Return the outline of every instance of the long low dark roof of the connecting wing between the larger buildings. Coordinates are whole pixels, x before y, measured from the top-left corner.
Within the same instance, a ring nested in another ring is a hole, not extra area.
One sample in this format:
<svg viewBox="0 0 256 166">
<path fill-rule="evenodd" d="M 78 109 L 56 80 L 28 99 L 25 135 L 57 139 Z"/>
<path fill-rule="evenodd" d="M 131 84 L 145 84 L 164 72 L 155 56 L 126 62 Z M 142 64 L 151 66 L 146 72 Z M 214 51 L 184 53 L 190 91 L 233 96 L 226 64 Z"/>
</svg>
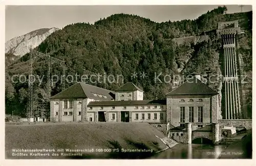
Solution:
<svg viewBox="0 0 256 166">
<path fill-rule="evenodd" d="M 88 106 L 166 105 L 166 100 L 91 101 Z"/>
</svg>

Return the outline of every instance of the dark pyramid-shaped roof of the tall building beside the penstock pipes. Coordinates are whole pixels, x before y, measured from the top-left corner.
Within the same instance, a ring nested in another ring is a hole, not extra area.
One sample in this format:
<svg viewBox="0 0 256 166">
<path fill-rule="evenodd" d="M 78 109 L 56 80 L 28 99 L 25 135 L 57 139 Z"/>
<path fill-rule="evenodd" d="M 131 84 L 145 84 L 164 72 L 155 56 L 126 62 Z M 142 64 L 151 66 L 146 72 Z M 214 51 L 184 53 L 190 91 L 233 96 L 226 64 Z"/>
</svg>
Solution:
<svg viewBox="0 0 256 166">
<path fill-rule="evenodd" d="M 166 95 L 218 94 L 196 77 L 188 79 L 184 84 Z"/>
</svg>

